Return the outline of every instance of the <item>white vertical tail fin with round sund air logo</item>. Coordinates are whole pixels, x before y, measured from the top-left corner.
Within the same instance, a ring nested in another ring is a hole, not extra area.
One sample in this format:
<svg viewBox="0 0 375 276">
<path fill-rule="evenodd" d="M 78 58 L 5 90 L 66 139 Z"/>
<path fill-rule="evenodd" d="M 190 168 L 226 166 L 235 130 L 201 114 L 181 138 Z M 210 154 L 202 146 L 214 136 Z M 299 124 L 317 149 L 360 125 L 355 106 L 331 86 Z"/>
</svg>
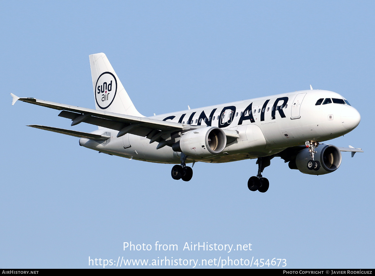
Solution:
<svg viewBox="0 0 375 276">
<path fill-rule="evenodd" d="M 89 55 L 96 110 L 144 117 L 133 105 L 105 54 Z"/>
</svg>

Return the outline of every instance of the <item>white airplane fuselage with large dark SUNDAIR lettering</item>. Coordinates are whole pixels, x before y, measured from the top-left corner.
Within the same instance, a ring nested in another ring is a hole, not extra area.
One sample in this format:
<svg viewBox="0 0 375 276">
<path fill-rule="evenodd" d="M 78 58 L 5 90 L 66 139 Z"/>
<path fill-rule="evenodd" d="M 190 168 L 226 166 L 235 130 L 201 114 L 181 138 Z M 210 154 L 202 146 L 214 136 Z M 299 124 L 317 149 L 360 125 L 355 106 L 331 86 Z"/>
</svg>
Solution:
<svg viewBox="0 0 375 276">
<path fill-rule="evenodd" d="M 344 99 L 326 90 L 303 90 L 229 104 L 196 108 L 149 118 L 192 126 L 213 126 L 236 130 L 239 138 L 228 141 L 222 153 L 190 158 L 191 162 L 222 163 L 276 154 L 305 141 L 326 141 L 353 130 L 360 121 L 358 111 L 347 104 L 316 105 L 319 99 Z M 345 100 L 345 99 L 344 99 Z M 251 113 L 249 112 L 251 110 Z M 80 139 L 80 145 L 108 154 L 157 163 L 180 163 L 180 153 L 165 146 L 156 149 L 146 137 L 100 128 L 96 134 L 111 136 L 106 141 Z"/>
</svg>

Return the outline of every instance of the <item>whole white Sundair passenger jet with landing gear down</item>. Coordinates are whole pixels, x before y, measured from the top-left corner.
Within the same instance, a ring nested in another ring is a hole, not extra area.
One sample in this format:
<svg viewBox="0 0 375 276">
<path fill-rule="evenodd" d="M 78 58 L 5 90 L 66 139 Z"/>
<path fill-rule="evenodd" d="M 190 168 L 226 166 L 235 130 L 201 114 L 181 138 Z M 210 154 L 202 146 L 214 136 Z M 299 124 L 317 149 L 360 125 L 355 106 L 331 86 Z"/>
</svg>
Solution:
<svg viewBox="0 0 375 276">
<path fill-rule="evenodd" d="M 279 156 L 289 168 L 305 174 L 335 171 L 341 152 L 352 157 L 360 148 L 336 147 L 321 141 L 342 136 L 360 122 L 360 114 L 338 93 L 326 90 L 296 91 L 229 104 L 145 117 L 127 95 L 105 54 L 89 56 L 96 110 L 12 95 L 17 101 L 61 110 L 58 116 L 71 126 L 99 126 L 90 133 L 57 127 L 29 125 L 80 137 L 80 145 L 131 159 L 180 164 L 173 179 L 189 181 L 193 170 L 186 163 L 223 163 L 257 158 L 258 174 L 248 180 L 252 191 L 266 192 L 262 176 L 270 160 Z"/>
</svg>

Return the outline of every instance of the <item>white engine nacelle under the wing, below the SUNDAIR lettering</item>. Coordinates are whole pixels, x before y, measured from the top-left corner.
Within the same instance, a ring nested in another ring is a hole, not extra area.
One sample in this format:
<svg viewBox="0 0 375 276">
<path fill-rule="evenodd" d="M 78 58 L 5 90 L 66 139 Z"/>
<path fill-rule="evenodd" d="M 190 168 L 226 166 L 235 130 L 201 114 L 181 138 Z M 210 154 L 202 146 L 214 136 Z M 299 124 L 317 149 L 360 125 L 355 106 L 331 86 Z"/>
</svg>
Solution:
<svg viewBox="0 0 375 276">
<path fill-rule="evenodd" d="M 226 136 L 219 127 L 193 129 L 181 136 L 175 143 L 174 151 L 181 151 L 187 156 L 209 157 L 222 153 L 226 145 Z"/>
</svg>

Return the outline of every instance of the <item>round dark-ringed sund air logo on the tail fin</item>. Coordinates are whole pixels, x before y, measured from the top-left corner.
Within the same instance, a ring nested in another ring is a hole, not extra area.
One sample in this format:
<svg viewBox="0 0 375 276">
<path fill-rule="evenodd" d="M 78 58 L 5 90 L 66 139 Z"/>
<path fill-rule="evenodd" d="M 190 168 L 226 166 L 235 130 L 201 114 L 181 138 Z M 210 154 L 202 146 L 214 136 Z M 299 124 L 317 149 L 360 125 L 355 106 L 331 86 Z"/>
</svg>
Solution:
<svg viewBox="0 0 375 276">
<path fill-rule="evenodd" d="M 115 99 L 117 80 L 110 72 L 104 72 L 96 81 L 95 100 L 101 109 L 108 108 Z"/>
</svg>

